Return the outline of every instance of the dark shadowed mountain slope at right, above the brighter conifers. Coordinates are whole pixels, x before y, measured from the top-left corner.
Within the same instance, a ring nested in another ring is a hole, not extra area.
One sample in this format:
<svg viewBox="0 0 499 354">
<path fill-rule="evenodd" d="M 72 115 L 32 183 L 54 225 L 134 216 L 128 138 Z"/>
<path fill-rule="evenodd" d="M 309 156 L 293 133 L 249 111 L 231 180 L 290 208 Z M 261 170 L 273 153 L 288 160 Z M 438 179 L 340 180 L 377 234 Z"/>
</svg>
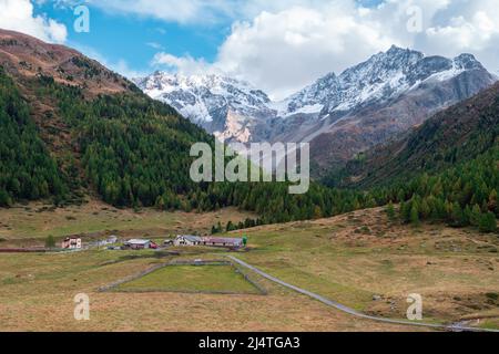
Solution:
<svg viewBox="0 0 499 354">
<path fill-rule="evenodd" d="M 496 83 L 438 112 L 400 139 L 378 145 L 344 167 L 329 170 L 324 181 L 335 187 L 364 189 L 407 184 L 417 176 L 438 175 L 487 154 L 492 157 L 488 173 L 497 174 L 498 147 L 499 83 Z M 499 187 L 497 177 L 482 181 Z M 477 188 L 480 183 L 473 181 L 472 187 Z"/>
</svg>

